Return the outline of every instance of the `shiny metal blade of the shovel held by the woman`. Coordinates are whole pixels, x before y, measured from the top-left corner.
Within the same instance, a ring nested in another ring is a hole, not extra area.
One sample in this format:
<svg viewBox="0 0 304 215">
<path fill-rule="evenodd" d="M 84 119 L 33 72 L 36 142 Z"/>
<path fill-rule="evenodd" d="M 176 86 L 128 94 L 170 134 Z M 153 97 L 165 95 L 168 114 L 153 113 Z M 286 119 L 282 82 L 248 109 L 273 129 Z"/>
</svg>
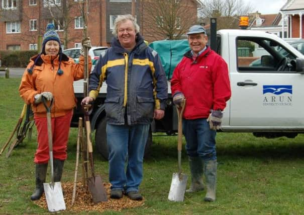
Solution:
<svg viewBox="0 0 304 215">
<path fill-rule="evenodd" d="M 60 182 L 43 183 L 46 203 L 50 212 L 65 210 L 65 202 L 63 198 L 62 188 Z"/>
</svg>

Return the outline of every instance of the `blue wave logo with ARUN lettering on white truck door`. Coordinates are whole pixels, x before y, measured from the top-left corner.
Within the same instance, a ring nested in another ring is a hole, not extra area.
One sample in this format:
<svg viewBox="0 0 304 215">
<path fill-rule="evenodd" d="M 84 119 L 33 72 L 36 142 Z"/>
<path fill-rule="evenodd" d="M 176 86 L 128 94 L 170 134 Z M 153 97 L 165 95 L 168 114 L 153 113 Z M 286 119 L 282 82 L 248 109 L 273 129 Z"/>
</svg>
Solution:
<svg viewBox="0 0 304 215">
<path fill-rule="evenodd" d="M 292 85 L 263 85 L 263 106 L 291 106 Z"/>
</svg>

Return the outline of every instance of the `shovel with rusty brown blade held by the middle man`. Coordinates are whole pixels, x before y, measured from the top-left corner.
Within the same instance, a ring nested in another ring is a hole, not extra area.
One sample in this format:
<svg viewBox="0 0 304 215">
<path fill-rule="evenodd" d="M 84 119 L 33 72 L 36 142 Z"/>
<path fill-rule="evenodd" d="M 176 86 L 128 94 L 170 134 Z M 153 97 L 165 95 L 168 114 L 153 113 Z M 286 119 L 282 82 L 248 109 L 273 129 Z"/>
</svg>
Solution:
<svg viewBox="0 0 304 215">
<path fill-rule="evenodd" d="M 87 185 L 88 185 L 88 190 L 92 195 L 93 202 L 96 204 L 101 201 L 108 201 L 108 197 L 102 178 L 100 177 L 100 175 L 95 175 L 95 171 L 94 171 L 93 148 L 91 142 L 91 125 L 89 121 L 89 112 L 87 108 L 85 108 L 84 118 L 85 118 L 88 156 L 89 156 L 89 163 L 92 174 L 91 177 L 87 178 Z"/>
</svg>

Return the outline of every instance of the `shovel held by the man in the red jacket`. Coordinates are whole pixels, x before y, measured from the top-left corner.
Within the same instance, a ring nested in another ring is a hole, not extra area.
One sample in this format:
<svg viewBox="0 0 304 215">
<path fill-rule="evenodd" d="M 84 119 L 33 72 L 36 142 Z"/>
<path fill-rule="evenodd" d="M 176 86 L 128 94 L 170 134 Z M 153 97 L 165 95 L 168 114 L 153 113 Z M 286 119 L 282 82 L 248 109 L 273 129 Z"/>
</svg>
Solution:
<svg viewBox="0 0 304 215">
<path fill-rule="evenodd" d="M 177 107 L 177 115 L 178 115 L 178 141 L 177 141 L 177 152 L 178 152 L 178 172 L 173 173 L 172 182 L 170 186 L 170 191 L 168 195 L 168 199 L 170 201 L 183 201 L 187 179 L 188 176 L 181 173 L 181 147 L 182 147 L 182 115 L 185 109 L 186 100 L 184 99 L 181 102 L 181 110 Z"/>
</svg>

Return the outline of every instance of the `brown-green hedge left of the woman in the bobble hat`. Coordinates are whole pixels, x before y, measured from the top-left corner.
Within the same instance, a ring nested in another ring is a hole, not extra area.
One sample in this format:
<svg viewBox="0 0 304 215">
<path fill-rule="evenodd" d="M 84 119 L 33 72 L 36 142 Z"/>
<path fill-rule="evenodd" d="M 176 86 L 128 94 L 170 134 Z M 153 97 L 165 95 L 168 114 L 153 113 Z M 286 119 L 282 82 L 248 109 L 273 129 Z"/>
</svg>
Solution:
<svg viewBox="0 0 304 215">
<path fill-rule="evenodd" d="M 2 67 L 26 67 L 30 58 L 37 54 L 37 50 L 28 51 L 0 51 Z"/>
</svg>

